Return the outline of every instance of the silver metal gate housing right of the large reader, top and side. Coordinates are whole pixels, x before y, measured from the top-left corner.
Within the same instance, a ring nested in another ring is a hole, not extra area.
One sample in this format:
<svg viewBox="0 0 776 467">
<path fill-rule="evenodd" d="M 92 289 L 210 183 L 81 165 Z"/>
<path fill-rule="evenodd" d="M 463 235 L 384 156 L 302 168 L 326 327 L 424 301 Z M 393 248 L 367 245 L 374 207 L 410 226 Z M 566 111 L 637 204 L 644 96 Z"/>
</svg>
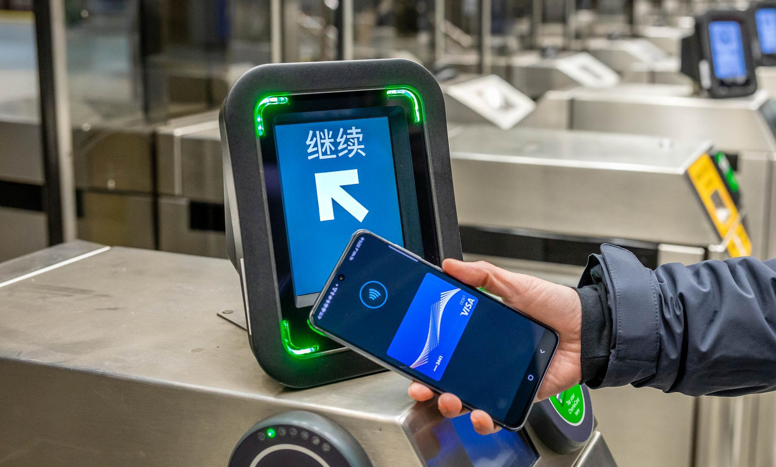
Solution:
<svg viewBox="0 0 776 467">
<path fill-rule="evenodd" d="M 469 126 L 450 138 L 459 223 L 706 247 L 719 239 L 684 169 L 709 147 L 692 140 Z M 589 193 L 618 202 L 580 209 L 580 195 Z"/>
</svg>

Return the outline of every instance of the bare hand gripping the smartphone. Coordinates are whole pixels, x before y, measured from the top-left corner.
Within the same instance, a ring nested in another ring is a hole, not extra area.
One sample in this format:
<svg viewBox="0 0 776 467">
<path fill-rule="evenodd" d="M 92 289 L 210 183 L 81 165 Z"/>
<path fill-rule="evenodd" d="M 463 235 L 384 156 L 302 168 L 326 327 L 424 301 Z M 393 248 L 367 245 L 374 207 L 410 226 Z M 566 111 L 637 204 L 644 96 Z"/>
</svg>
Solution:
<svg viewBox="0 0 776 467">
<path fill-rule="evenodd" d="M 442 268 L 461 282 L 473 287 L 482 287 L 487 292 L 500 296 L 507 305 L 558 332 L 558 349 L 547 369 L 542 386 L 539 387 L 537 400 L 546 399 L 580 382 L 582 305 L 576 291 L 530 275 L 508 272 L 486 261 L 467 263 L 446 259 Z M 434 396 L 428 386 L 419 382 L 413 382 L 408 393 L 418 401 L 429 400 Z M 466 413 L 461 400 L 451 393 L 439 396 L 437 405 L 439 412 L 445 417 L 458 417 Z M 490 434 L 501 429 L 483 410 L 473 410 L 471 420 L 479 434 Z"/>
</svg>

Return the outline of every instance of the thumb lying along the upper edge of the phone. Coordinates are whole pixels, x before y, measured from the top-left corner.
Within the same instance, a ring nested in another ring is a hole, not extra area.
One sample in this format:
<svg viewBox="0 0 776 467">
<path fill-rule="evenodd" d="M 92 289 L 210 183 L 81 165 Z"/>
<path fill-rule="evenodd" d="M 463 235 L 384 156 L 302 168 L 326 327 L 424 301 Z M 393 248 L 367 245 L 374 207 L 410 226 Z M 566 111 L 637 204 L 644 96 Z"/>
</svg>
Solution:
<svg viewBox="0 0 776 467">
<path fill-rule="evenodd" d="M 530 275 L 509 272 L 487 261 L 467 263 L 448 258 L 442 268 L 449 275 L 473 287 L 482 287 L 518 310 L 531 314 L 533 306 L 551 282 Z"/>
</svg>

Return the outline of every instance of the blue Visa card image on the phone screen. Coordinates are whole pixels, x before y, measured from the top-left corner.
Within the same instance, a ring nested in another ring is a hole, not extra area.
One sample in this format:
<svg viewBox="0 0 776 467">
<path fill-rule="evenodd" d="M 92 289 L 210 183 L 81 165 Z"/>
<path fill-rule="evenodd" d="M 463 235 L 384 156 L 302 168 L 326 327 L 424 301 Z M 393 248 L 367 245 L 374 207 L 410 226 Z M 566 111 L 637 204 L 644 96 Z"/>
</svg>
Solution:
<svg viewBox="0 0 776 467">
<path fill-rule="evenodd" d="M 427 273 L 393 336 L 388 355 L 439 381 L 476 305 L 476 296 Z"/>
</svg>

